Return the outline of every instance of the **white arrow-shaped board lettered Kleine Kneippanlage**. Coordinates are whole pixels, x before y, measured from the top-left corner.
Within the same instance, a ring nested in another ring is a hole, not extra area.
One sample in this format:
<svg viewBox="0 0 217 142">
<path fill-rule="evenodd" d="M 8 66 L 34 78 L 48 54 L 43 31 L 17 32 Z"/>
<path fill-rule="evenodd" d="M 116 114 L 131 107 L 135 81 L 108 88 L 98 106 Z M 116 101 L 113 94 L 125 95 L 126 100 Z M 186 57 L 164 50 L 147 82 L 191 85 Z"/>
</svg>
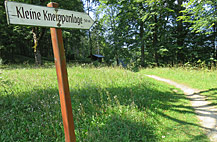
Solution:
<svg viewBox="0 0 217 142">
<path fill-rule="evenodd" d="M 94 21 L 82 12 L 5 1 L 9 24 L 89 29 Z"/>
</svg>

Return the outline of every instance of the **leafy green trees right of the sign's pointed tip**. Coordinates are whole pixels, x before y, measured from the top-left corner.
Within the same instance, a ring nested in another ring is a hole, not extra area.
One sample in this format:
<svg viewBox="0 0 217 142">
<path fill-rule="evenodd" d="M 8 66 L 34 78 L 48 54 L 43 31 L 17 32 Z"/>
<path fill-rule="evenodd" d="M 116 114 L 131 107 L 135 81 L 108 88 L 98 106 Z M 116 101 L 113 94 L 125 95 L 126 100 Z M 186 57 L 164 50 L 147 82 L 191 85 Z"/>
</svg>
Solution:
<svg viewBox="0 0 217 142">
<path fill-rule="evenodd" d="M 139 66 L 144 58 L 143 64 L 174 66 L 188 62 L 196 64 L 200 59 L 206 65 L 216 64 L 214 60 L 209 61 L 210 58 L 217 58 L 216 28 L 210 29 L 215 26 L 210 22 L 216 21 L 215 2 L 190 1 L 184 6 L 185 3 L 184 0 L 100 1 L 97 14 L 102 15 L 98 24 L 104 37 L 106 62 L 132 59 L 128 64 Z M 197 9 L 197 17 L 191 8 Z M 201 31 L 191 32 L 199 27 Z M 213 34 L 206 35 L 213 31 Z M 123 48 L 126 49 L 124 52 Z M 145 57 L 142 54 L 146 54 Z M 138 57 L 140 62 L 136 61 Z"/>
</svg>

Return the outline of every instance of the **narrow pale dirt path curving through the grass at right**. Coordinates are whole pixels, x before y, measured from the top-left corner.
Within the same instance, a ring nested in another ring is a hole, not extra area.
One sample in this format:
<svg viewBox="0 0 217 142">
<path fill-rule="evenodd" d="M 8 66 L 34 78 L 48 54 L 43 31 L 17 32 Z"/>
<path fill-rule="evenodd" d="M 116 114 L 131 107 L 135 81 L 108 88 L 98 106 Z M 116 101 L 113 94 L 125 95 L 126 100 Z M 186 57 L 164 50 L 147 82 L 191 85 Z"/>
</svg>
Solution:
<svg viewBox="0 0 217 142">
<path fill-rule="evenodd" d="M 166 82 L 176 88 L 181 89 L 184 94 L 190 99 L 192 107 L 195 109 L 197 116 L 200 120 L 202 127 L 205 129 L 207 136 L 212 142 L 217 142 L 217 109 L 210 106 L 210 102 L 205 100 L 204 96 L 201 96 L 199 90 L 189 88 L 185 85 L 178 84 L 174 81 L 160 78 L 154 75 L 146 75 L 155 80 Z"/>
</svg>

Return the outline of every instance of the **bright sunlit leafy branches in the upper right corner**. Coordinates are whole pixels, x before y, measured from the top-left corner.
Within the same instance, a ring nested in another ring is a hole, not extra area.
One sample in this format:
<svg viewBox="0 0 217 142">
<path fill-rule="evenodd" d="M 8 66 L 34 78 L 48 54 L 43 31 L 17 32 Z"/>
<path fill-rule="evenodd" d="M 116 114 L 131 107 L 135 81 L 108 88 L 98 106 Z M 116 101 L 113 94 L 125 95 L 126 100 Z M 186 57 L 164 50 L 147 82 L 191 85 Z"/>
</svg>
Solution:
<svg viewBox="0 0 217 142">
<path fill-rule="evenodd" d="M 193 32 L 206 31 L 212 33 L 214 25 L 216 25 L 217 3 L 215 0 L 190 0 L 188 3 L 183 4 L 186 7 L 181 11 L 184 15 L 178 17 L 178 20 L 183 22 L 190 22 L 190 27 Z"/>
</svg>

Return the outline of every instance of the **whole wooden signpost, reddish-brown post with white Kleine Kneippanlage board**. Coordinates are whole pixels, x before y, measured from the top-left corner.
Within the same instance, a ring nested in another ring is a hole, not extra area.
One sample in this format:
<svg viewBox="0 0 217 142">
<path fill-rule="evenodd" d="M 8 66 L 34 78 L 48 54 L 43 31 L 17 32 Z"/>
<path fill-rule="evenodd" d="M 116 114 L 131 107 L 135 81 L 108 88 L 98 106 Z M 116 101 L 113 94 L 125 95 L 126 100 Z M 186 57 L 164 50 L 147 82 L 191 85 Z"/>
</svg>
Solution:
<svg viewBox="0 0 217 142">
<path fill-rule="evenodd" d="M 94 21 L 86 13 L 5 1 L 8 24 L 50 27 L 59 86 L 60 104 L 66 142 L 75 142 L 74 121 L 69 92 L 66 58 L 61 28 L 89 29 Z"/>
</svg>

